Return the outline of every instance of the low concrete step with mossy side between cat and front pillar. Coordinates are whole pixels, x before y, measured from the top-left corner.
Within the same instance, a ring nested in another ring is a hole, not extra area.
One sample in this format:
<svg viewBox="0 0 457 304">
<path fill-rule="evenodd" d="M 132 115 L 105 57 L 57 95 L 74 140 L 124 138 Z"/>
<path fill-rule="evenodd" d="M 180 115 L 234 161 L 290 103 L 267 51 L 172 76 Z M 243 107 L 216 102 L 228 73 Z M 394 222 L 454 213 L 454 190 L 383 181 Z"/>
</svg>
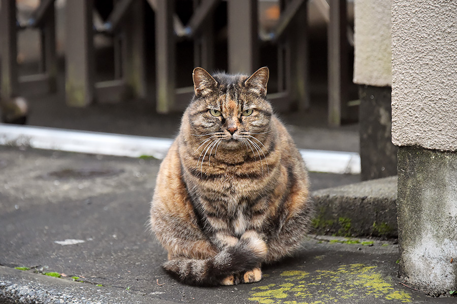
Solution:
<svg viewBox="0 0 457 304">
<path fill-rule="evenodd" d="M 312 193 L 316 234 L 397 238 L 397 176 Z"/>
</svg>

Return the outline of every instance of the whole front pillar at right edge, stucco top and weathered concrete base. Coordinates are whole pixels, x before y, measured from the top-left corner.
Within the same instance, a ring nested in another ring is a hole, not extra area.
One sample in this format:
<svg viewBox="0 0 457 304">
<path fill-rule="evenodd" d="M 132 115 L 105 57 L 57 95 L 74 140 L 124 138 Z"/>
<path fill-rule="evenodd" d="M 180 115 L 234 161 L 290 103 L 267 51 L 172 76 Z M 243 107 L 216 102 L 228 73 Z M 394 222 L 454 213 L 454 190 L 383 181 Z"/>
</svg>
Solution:
<svg viewBox="0 0 457 304">
<path fill-rule="evenodd" d="M 391 12 L 400 275 L 445 294 L 457 288 L 457 3 L 393 0 Z"/>
</svg>

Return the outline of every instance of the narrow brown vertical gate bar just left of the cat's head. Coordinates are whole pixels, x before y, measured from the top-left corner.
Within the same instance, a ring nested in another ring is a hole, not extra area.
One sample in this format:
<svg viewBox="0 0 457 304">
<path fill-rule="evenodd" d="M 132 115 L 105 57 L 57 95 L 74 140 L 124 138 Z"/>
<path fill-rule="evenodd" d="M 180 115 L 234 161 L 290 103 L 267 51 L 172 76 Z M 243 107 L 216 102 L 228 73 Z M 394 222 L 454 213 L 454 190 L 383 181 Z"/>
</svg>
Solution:
<svg viewBox="0 0 457 304">
<path fill-rule="evenodd" d="M 174 0 L 157 0 L 155 11 L 156 109 L 168 113 L 175 101 L 176 46 L 173 34 Z"/>
</svg>

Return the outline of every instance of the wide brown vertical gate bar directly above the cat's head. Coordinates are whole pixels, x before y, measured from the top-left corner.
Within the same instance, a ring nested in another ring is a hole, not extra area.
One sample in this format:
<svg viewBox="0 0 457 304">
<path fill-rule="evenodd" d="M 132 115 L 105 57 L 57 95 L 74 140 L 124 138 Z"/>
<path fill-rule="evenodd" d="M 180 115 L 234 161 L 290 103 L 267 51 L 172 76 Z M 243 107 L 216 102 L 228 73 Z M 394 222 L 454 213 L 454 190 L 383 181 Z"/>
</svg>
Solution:
<svg viewBox="0 0 457 304">
<path fill-rule="evenodd" d="M 227 0 L 228 71 L 252 73 L 258 67 L 256 0 Z"/>
</svg>

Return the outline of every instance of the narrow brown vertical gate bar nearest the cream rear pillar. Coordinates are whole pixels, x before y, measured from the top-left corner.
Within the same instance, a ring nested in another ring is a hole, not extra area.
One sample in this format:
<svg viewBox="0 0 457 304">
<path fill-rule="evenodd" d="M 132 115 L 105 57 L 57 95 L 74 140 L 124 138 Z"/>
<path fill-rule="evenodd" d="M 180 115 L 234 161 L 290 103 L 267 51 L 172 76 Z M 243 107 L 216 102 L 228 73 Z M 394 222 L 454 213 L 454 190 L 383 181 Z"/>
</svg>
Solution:
<svg viewBox="0 0 457 304">
<path fill-rule="evenodd" d="M 346 1 L 330 0 L 329 22 L 329 125 L 341 125 L 347 113 Z"/>
</svg>

